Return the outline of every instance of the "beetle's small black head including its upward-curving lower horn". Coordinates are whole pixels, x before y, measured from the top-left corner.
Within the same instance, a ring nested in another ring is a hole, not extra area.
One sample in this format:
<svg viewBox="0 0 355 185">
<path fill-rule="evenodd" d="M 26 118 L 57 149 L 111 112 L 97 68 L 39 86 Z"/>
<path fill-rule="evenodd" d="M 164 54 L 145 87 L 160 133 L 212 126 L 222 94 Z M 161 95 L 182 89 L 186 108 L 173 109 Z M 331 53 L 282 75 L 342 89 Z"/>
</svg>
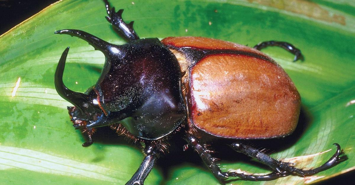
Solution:
<svg viewBox="0 0 355 185">
<path fill-rule="evenodd" d="M 97 95 L 92 87 L 85 93 L 80 93 L 72 91 L 64 85 L 63 72 L 68 51 L 69 47 L 63 52 L 56 68 L 55 89 L 62 98 L 74 105 L 67 107 L 74 126 L 86 126 L 88 121 L 96 121 L 103 112 L 99 107 Z"/>
</svg>

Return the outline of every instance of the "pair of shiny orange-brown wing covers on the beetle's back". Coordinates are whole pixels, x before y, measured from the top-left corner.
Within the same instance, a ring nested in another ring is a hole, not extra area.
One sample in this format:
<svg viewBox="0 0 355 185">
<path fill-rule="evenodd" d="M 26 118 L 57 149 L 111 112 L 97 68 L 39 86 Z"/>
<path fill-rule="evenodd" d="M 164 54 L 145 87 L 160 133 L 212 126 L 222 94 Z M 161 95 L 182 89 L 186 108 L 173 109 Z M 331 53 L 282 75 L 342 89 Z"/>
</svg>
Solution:
<svg viewBox="0 0 355 185">
<path fill-rule="evenodd" d="M 187 40 L 195 41 L 196 46 Z M 252 54 L 261 52 L 253 48 L 202 37 L 168 37 L 162 42 L 179 55 L 196 49 L 207 53 L 198 61 L 179 57 L 179 62 L 190 64 L 182 81 L 187 86 L 183 95 L 190 124 L 224 138 L 273 138 L 294 131 L 300 96 L 271 58 L 265 59 L 265 54 L 255 57 Z M 231 48 L 236 52 L 230 52 Z"/>
</svg>

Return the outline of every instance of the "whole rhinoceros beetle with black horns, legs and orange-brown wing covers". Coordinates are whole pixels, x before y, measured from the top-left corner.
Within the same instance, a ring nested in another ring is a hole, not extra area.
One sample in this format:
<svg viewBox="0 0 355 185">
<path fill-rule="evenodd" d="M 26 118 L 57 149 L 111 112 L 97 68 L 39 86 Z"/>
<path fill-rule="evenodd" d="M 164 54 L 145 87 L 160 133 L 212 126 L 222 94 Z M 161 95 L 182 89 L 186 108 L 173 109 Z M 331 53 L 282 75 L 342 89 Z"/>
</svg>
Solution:
<svg viewBox="0 0 355 185">
<path fill-rule="evenodd" d="M 243 144 L 245 139 L 268 139 L 291 134 L 300 114 L 300 95 L 290 77 L 270 57 L 260 52 L 267 46 L 283 47 L 301 59 L 299 49 L 288 42 L 267 41 L 255 47 L 204 37 L 140 39 L 133 22 L 122 20 L 104 0 L 114 28 L 129 40 L 114 45 L 81 30 L 65 29 L 55 34 L 79 37 L 105 55 L 97 83 L 85 93 L 68 89 L 62 80 L 69 47 L 55 71 L 58 94 L 72 103 L 68 107 L 75 128 L 88 135 L 83 146 L 93 143 L 96 127 L 109 126 L 135 142 L 144 143 L 144 160 L 127 184 L 143 184 L 172 135 L 182 132 L 214 176 L 223 183 L 229 177 L 265 181 L 288 175 L 308 176 L 338 162 L 337 151 L 320 167 L 303 170 L 293 163 L 275 160 Z M 130 121 L 121 122 L 130 117 Z M 204 144 L 211 138 L 235 139 L 231 148 L 256 158 L 274 172 L 253 175 L 222 172 Z"/>
</svg>

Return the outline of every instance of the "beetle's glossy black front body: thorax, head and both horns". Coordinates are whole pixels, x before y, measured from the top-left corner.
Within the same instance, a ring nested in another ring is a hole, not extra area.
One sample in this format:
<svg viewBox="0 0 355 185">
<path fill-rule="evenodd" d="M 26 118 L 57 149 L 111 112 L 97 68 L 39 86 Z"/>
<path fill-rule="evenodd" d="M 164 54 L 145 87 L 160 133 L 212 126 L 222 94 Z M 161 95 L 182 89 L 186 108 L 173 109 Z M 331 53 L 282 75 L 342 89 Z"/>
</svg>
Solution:
<svg viewBox="0 0 355 185">
<path fill-rule="evenodd" d="M 70 112 L 75 121 L 85 121 L 86 128 L 94 128 L 132 117 L 122 122 L 127 131 L 141 139 L 156 140 L 173 132 L 185 119 L 178 61 L 157 38 L 112 45 L 80 30 L 56 34 L 78 36 L 106 57 L 99 80 L 86 94 L 66 92 L 58 75 L 63 73 L 68 49 L 60 60 L 55 84 L 78 108 Z"/>
</svg>

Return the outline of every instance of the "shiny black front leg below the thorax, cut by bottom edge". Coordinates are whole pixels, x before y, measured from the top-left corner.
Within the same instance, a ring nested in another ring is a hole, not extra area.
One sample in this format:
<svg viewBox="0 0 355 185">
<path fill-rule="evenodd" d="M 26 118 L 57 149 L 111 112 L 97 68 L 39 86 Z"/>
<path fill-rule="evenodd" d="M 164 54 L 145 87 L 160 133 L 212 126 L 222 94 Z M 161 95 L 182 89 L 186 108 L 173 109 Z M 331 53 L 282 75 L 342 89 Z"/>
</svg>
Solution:
<svg viewBox="0 0 355 185">
<path fill-rule="evenodd" d="M 156 144 L 148 144 L 144 148 L 144 153 L 146 157 L 144 157 L 141 166 L 137 169 L 136 173 L 132 176 L 132 178 L 126 183 L 126 185 L 142 185 L 144 180 L 147 178 L 149 172 L 151 172 L 154 163 L 159 158 L 159 148 Z"/>
</svg>

